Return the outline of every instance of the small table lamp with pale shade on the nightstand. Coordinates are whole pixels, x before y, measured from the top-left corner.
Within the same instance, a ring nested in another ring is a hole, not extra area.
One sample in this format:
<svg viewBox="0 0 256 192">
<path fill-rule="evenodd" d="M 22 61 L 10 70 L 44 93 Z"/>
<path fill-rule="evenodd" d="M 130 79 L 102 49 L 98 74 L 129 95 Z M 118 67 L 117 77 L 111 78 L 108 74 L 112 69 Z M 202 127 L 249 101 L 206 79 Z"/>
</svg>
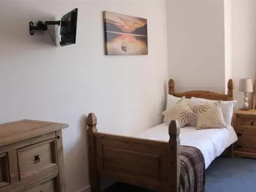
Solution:
<svg viewBox="0 0 256 192">
<path fill-rule="evenodd" d="M 248 93 L 253 92 L 252 80 L 250 78 L 240 79 L 239 91 L 244 92 L 244 108 L 241 110 L 249 110 Z"/>
</svg>

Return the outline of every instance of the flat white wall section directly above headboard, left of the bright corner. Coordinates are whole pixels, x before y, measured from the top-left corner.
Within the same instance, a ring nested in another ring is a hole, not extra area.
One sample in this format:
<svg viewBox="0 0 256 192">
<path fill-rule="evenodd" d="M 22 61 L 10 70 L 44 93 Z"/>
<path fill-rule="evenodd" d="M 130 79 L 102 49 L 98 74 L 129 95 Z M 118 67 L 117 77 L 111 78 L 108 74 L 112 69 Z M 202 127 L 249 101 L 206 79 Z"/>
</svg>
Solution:
<svg viewBox="0 0 256 192">
<path fill-rule="evenodd" d="M 225 91 L 224 3 L 166 1 L 168 75 L 177 91 Z"/>
</svg>

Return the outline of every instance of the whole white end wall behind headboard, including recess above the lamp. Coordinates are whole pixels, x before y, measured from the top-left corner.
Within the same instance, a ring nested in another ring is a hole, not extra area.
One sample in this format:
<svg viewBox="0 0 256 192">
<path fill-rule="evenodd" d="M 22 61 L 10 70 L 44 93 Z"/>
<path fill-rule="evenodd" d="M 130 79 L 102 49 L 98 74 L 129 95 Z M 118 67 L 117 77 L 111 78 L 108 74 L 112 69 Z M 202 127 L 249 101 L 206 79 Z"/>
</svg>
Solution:
<svg viewBox="0 0 256 192">
<path fill-rule="evenodd" d="M 168 75 L 177 91 L 226 92 L 233 79 L 236 108 L 240 78 L 255 79 L 256 0 L 167 1 Z"/>
</svg>

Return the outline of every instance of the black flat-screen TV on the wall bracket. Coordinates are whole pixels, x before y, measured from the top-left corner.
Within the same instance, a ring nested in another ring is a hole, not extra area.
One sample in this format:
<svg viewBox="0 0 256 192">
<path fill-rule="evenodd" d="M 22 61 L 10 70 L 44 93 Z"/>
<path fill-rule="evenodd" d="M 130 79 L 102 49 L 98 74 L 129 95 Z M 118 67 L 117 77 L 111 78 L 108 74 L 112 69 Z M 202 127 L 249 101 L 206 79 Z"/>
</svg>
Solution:
<svg viewBox="0 0 256 192">
<path fill-rule="evenodd" d="M 60 46 L 67 46 L 76 43 L 77 12 L 74 9 L 63 15 L 60 20 Z"/>
</svg>

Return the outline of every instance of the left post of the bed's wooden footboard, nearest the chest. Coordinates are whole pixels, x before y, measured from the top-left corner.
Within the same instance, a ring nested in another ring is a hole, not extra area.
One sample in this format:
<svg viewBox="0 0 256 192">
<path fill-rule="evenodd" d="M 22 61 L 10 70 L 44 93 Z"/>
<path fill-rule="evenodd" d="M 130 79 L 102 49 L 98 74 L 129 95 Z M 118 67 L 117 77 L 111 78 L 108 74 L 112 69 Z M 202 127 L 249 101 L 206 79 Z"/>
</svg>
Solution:
<svg viewBox="0 0 256 192">
<path fill-rule="evenodd" d="M 97 133 L 97 117 L 94 113 L 90 113 L 87 117 L 88 125 L 88 158 L 89 158 L 89 174 L 92 192 L 100 192 L 100 178 L 97 170 L 96 141 L 94 133 Z"/>
</svg>

